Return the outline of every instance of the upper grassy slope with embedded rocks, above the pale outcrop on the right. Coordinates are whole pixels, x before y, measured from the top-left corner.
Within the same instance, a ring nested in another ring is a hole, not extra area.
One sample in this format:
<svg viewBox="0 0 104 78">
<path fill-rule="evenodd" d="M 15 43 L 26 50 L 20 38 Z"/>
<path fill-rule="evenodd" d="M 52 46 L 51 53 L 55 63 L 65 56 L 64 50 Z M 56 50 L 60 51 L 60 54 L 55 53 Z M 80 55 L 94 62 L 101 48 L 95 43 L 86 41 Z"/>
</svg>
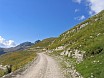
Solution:
<svg viewBox="0 0 104 78">
<path fill-rule="evenodd" d="M 61 34 L 49 48 L 67 45 L 66 48 L 84 50 L 90 55 L 102 51 L 103 41 L 104 11 Z"/>
</svg>

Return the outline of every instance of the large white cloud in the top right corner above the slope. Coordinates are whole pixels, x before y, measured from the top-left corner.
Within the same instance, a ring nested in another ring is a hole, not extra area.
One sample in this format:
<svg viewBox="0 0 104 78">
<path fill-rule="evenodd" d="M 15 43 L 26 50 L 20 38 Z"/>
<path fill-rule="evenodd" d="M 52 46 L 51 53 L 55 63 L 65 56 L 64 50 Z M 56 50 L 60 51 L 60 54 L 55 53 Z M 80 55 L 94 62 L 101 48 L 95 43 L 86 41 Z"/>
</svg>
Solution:
<svg viewBox="0 0 104 78">
<path fill-rule="evenodd" d="M 104 0 L 87 0 L 90 8 L 89 14 L 94 15 L 104 10 Z"/>
</svg>

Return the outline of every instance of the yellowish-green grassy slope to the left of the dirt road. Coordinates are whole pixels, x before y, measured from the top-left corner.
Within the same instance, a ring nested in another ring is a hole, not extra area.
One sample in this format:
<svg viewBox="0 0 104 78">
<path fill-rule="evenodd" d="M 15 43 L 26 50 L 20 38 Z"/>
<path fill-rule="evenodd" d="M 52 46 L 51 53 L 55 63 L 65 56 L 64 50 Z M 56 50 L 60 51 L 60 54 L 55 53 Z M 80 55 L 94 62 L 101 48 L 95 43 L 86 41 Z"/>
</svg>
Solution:
<svg viewBox="0 0 104 78">
<path fill-rule="evenodd" d="M 12 65 L 12 71 L 24 67 L 36 57 L 35 52 L 31 51 L 18 51 L 7 53 L 0 56 L 0 65 Z M 0 69 L 0 76 L 7 74 L 7 71 Z"/>
</svg>

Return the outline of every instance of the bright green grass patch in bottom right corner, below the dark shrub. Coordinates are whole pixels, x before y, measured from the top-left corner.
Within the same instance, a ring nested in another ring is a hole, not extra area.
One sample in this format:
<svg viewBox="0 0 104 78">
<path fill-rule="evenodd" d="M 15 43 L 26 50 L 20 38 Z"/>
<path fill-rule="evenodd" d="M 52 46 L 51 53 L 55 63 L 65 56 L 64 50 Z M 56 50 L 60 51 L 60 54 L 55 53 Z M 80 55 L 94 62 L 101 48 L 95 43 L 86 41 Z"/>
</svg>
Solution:
<svg viewBox="0 0 104 78">
<path fill-rule="evenodd" d="M 76 69 L 84 78 L 91 78 L 91 75 L 93 78 L 104 78 L 104 54 L 85 59 L 76 65 Z"/>
</svg>

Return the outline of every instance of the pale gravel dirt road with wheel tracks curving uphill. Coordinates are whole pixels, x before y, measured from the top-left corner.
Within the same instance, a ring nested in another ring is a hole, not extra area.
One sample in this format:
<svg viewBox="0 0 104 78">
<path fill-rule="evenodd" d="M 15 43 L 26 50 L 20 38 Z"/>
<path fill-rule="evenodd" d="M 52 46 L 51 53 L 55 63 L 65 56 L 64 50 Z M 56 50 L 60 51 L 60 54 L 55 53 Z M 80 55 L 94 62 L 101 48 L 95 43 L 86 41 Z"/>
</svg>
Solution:
<svg viewBox="0 0 104 78">
<path fill-rule="evenodd" d="M 18 74 L 13 78 L 64 78 L 61 74 L 57 62 L 48 55 L 39 53 L 37 61 L 35 61 L 22 74 Z"/>
</svg>

